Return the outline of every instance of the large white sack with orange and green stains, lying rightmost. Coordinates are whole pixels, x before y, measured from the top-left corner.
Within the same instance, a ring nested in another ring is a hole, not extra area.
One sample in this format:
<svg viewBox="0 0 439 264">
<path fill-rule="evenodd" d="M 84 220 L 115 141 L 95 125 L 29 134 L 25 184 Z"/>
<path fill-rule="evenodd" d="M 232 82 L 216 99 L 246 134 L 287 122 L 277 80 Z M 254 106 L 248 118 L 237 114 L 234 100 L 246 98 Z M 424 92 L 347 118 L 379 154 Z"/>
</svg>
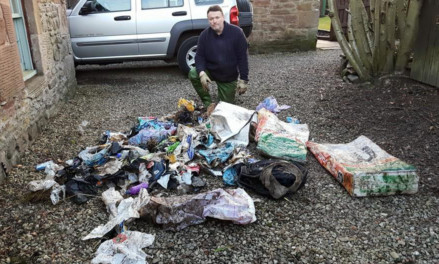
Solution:
<svg viewBox="0 0 439 264">
<path fill-rule="evenodd" d="M 365 136 L 347 144 L 309 141 L 307 146 L 352 196 L 413 194 L 418 191 L 416 168 L 390 155 Z"/>
</svg>

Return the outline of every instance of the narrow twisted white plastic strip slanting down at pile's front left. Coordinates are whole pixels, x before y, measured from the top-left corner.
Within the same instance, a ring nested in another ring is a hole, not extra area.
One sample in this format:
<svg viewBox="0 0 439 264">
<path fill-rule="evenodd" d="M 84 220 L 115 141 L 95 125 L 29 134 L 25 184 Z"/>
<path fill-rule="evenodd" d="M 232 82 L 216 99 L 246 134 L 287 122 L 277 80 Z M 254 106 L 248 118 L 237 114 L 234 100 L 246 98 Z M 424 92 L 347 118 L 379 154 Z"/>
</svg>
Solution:
<svg viewBox="0 0 439 264">
<path fill-rule="evenodd" d="M 82 240 L 101 238 L 123 221 L 127 221 L 131 218 L 139 218 L 140 208 L 148 204 L 149 200 L 150 197 L 146 189 L 141 189 L 139 196 L 135 199 L 129 197 L 122 200 L 117 207 L 117 215 L 110 219 L 105 225 L 94 228 L 87 236 L 83 237 Z"/>
</svg>

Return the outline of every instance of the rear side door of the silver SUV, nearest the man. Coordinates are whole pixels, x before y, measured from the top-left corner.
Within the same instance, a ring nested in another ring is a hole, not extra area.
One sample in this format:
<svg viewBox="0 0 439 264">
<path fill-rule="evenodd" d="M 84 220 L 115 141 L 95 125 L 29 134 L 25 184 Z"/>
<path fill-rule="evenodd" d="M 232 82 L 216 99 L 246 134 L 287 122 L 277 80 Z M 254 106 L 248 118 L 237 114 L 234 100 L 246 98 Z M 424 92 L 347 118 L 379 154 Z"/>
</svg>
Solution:
<svg viewBox="0 0 439 264">
<path fill-rule="evenodd" d="M 189 0 L 139 0 L 137 36 L 142 56 L 166 56 L 171 29 L 177 23 L 192 27 Z"/>
</svg>

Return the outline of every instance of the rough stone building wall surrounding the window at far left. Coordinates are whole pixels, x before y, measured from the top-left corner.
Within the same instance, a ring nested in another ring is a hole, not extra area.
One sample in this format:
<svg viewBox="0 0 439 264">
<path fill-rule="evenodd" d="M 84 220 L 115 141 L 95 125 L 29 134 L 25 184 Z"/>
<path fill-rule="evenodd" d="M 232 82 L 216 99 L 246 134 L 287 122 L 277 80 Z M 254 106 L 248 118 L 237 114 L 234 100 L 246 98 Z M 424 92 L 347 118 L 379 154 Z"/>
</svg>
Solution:
<svg viewBox="0 0 439 264">
<path fill-rule="evenodd" d="M 0 0 L 0 180 L 76 88 L 65 0 L 22 3 L 37 73 L 23 81 L 9 0 Z"/>
</svg>

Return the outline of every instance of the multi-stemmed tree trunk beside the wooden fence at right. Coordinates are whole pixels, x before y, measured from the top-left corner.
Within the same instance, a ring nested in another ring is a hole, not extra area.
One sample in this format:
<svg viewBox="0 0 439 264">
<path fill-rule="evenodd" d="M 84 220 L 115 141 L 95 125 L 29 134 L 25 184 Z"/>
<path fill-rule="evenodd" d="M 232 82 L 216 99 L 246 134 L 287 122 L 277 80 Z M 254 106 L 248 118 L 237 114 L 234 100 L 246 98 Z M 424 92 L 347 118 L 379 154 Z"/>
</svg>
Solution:
<svg viewBox="0 0 439 264">
<path fill-rule="evenodd" d="M 423 0 L 370 0 L 370 16 L 363 0 L 350 0 L 348 38 L 343 33 L 335 1 L 328 2 L 332 26 L 360 79 L 403 72 L 416 38 Z"/>
</svg>

